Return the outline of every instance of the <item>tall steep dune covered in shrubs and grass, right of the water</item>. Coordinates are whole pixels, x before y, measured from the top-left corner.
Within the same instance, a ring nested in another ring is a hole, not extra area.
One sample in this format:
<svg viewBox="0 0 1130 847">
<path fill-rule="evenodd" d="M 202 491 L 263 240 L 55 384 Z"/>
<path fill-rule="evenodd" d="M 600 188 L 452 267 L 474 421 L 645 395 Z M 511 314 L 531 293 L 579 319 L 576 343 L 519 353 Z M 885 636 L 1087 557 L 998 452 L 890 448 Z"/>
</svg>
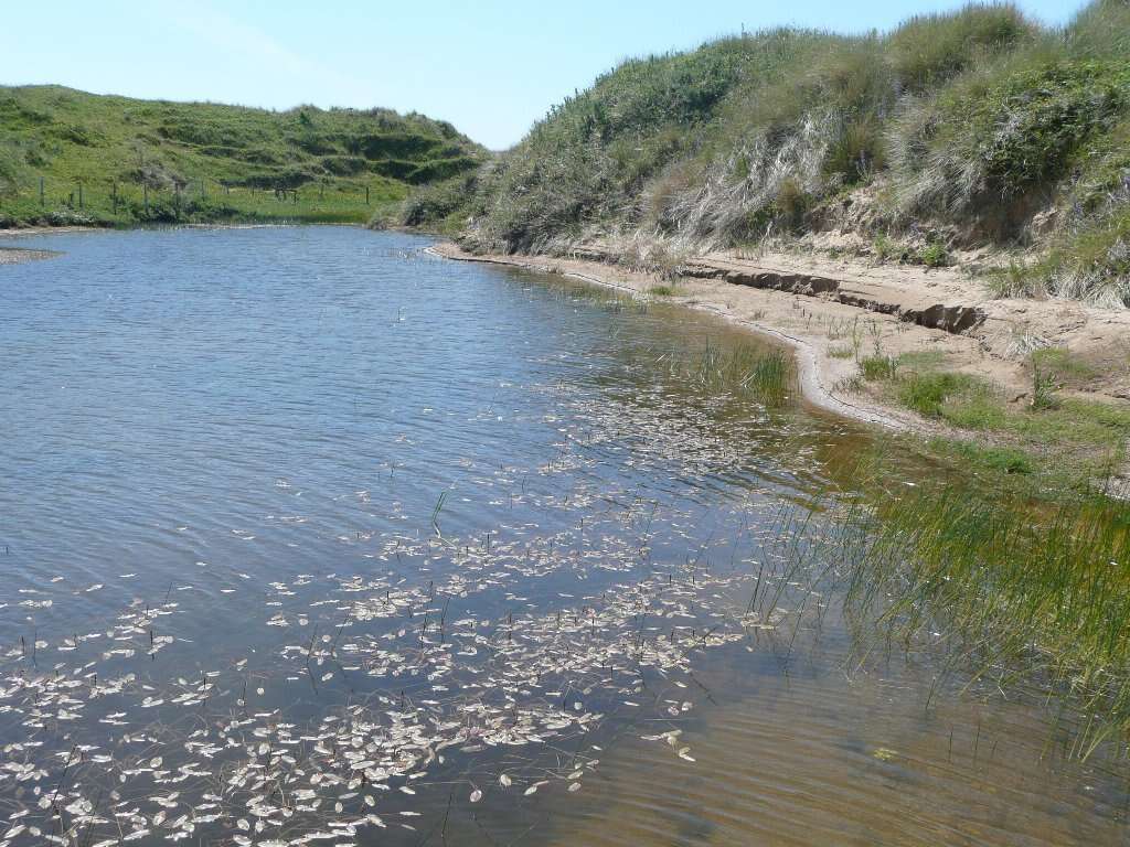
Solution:
<svg viewBox="0 0 1130 847">
<path fill-rule="evenodd" d="M 481 250 L 676 250 L 836 230 L 878 257 L 1022 245 L 1007 292 L 1130 304 L 1130 6 L 1011 6 L 885 34 L 773 29 L 628 61 L 401 220 Z"/>
</svg>

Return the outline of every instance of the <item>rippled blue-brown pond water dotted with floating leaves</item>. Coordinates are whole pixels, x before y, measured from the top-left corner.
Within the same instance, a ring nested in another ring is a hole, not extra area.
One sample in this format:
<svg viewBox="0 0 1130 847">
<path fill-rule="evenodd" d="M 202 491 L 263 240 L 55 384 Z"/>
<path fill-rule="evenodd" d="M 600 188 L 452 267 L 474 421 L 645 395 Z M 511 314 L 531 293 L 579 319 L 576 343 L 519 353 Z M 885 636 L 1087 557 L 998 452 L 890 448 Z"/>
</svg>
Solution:
<svg viewBox="0 0 1130 847">
<path fill-rule="evenodd" d="M 426 245 L 0 268 L 0 845 L 1124 840 L 1040 701 L 747 613 L 866 434 L 688 384 L 755 343 L 712 320 Z"/>
</svg>

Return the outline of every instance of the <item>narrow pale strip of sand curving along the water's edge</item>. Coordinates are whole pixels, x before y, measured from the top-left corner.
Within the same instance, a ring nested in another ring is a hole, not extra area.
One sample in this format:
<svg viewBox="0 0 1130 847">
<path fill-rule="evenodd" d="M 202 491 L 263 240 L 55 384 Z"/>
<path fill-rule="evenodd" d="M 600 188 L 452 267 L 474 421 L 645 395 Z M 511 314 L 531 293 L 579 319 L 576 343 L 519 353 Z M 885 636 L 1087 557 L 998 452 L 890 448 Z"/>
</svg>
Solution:
<svg viewBox="0 0 1130 847">
<path fill-rule="evenodd" d="M 502 256 L 502 255 L 476 255 L 463 251 L 452 242 L 441 242 L 428 247 L 426 253 L 458 262 L 477 262 L 483 264 L 496 264 L 502 267 L 519 268 L 523 270 L 539 271 L 542 273 L 556 273 L 571 279 L 579 279 L 590 285 L 602 288 L 611 288 L 624 291 L 635 297 L 647 296 L 647 287 L 654 286 L 655 280 L 651 274 L 625 271 L 609 264 L 585 261 L 585 260 L 556 260 L 548 256 Z M 785 297 L 781 292 L 780 297 Z M 877 402 L 864 400 L 859 402 L 854 398 L 849 401 L 843 396 L 837 396 L 834 388 L 834 379 L 842 378 L 837 367 L 837 361 L 831 357 L 823 356 L 818 347 L 811 339 L 803 335 L 792 334 L 777 326 L 770 325 L 764 321 L 751 320 L 734 314 L 733 309 L 725 302 L 710 300 L 705 298 L 670 297 L 671 303 L 687 306 L 699 312 L 706 312 L 716 317 L 725 320 L 728 323 L 741 326 L 747 331 L 763 335 L 777 343 L 788 347 L 796 357 L 798 383 L 800 385 L 803 401 L 808 404 L 826 412 L 832 412 L 841 417 L 870 424 L 886 429 L 910 433 L 919 431 L 925 434 L 937 434 L 941 427 L 932 426 L 922 420 L 915 420 L 904 411 L 886 407 Z"/>
</svg>

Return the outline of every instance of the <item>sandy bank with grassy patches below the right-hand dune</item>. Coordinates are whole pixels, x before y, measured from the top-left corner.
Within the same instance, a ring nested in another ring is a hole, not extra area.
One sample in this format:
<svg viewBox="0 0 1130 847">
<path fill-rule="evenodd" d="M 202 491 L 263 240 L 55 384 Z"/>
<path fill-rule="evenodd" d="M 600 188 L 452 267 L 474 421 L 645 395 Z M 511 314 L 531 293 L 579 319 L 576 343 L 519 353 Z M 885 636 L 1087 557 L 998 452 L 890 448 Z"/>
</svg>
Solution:
<svg viewBox="0 0 1130 847">
<path fill-rule="evenodd" d="M 685 260 L 675 273 L 659 276 L 625 268 L 616 261 L 620 254 L 600 243 L 579 245 L 566 256 L 478 255 L 450 241 L 428 252 L 559 273 L 710 313 L 788 346 L 802 402 L 812 409 L 893 434 L 965 444 L 980 451 L 982 461 L 1007 466 L 1015 459 L 1008 451 L 1019 448 L 1028 456 L 1019 460 L 1022 473 L 1032 473 L 1034 462 L 1072 468 L 1098 473 L 1130 494 L 1124 459 L 1130 439 L 1104 430 L 1107 421 L 1121 426 L 1113 421 L 1130 413 L 1130 309 L 993 298 L 957 268 L 873 264 L 817 253 L 720 252 Z M 1034 351 L 1044 349 L 1061 356 L 1072 375 L 1052 386 L 1051 408 L 1066 409 L 1058 424 L 1028 417 L 1038 390 Z M 872 376 L 867 367 L 890 370 Z M 972 381 L 967 384 L 983 386 L 977 391 L 992 398 L 991 414 L 998 417 L 963 426 L 941 413 L 919 413 L 894 387 L 894 368 Z M 1115 452 L 1106 455 L 1122 456 L 1115 459 L 1116 470 L 1099 469 L 1107 448 Z M 1110 489 L 1106 482 L 1101 487 Z"/>
</svg>

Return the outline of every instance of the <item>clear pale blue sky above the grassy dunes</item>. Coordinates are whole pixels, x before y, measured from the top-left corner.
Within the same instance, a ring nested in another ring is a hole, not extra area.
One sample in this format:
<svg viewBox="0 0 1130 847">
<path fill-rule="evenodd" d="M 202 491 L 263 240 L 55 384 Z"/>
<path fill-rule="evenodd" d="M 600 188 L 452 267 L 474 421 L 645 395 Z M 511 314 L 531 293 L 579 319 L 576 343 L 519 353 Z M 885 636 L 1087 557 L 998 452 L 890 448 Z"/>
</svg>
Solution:
<svg viewBox="0 0 1130 847">
<path fill-rule="evenodd" d="M 964 0 L 0 0 L 0 84 L 287 108 L 388 106 L 493 148 L 629 55 L 742 25 L 886 29 Z M 1085 0 L 1019 0 L 1066 23 Z"/>
</svg>

